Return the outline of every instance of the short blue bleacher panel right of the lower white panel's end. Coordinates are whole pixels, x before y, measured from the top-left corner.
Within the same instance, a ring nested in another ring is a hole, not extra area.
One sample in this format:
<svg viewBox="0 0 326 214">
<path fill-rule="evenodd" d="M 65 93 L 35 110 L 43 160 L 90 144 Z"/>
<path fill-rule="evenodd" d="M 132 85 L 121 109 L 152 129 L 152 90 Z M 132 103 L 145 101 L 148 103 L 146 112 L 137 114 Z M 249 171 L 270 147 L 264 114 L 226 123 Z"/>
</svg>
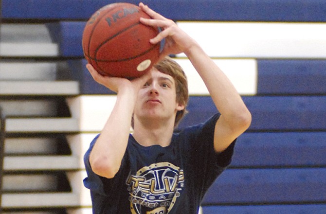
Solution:
<svg viewBox="0 0 326 214">
<path fill-rule="evenodd" d="M 257 94 L 326 94 L 326 60 L 258 60 Z"/>
</svg>

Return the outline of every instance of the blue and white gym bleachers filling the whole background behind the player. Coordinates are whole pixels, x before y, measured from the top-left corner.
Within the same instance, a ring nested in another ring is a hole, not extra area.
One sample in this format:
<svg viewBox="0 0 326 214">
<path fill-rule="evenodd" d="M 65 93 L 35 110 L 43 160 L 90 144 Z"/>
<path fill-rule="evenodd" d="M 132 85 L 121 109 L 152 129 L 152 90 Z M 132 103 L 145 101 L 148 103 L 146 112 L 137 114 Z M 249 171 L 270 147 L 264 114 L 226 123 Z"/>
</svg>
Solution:
<svg viewBox="0 0 326 214">
<path fill-rule="evenodd" d="M 2 213 L 91 213 L 82 158 L 115 94 L 86 70 L 81 36 L 113 2 L 0 0 Z M 326 214 L 326 1 L 143 2 L 198 40 L 253 116 L 200 212 Z M 174 59 L 191 95 L 181 129 L 217 110 L 185 55 Z"/>
</svg>

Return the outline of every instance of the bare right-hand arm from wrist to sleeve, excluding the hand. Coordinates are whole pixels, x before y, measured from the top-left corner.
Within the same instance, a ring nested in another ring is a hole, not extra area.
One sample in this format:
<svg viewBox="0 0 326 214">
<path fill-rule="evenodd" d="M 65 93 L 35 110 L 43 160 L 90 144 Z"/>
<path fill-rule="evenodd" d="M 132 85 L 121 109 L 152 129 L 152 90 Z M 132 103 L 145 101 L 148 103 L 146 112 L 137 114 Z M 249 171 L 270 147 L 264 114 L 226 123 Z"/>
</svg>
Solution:
<svg viewBox="0 0 326 214">
<path fill-rule="evenodd" d="M 186 55 L 221 114 L 215 126 L 214 148 L 222 152 L 249 127 L 251 114 L 228 77 L 198 45 L 192 46 Z"/>
</svg>

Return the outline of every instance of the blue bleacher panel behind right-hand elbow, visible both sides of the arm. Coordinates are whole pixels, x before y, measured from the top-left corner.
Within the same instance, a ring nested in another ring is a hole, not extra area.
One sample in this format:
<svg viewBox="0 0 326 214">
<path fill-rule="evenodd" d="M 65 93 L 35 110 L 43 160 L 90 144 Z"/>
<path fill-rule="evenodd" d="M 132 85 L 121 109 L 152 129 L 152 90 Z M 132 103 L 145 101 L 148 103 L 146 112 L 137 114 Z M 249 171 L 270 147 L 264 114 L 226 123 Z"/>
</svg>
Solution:
<svg viewBox="0 0 326 214">
<path fill-rule="evenodd" d="M 252 113 L 251 131 L 326 130 L 326 96 L 245 96 L 243 100 Z M 179 128 L 217 112 L 208 96 L 190 97 L 188 110 Z"/>
</svg>

